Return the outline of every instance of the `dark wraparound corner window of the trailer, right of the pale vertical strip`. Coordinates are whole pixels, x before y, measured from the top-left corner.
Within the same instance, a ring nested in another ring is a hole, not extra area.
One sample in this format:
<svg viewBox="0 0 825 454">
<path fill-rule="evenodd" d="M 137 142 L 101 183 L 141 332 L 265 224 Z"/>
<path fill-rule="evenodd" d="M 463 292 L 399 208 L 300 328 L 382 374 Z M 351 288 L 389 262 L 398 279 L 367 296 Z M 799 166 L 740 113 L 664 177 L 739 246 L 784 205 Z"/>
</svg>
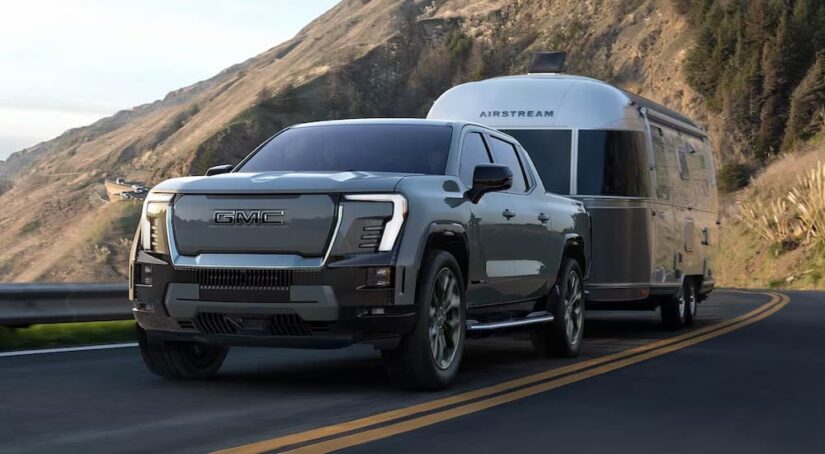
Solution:
<svg viewBox="0 0 825 454">
<path fill-rule="evenodd" d="M 578 194 L 647 197 L 649 186 L 643 132 L 579 132 Z"/>
</svg>

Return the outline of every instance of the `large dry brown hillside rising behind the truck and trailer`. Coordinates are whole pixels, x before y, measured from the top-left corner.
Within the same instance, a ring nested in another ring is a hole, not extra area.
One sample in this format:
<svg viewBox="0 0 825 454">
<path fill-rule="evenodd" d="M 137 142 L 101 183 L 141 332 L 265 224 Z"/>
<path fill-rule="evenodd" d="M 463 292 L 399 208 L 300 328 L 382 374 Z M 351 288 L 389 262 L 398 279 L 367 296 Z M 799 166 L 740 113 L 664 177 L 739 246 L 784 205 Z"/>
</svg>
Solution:
<svg viewBox="0 0 825 454">
<path fill-rule="evenodd" d="M 107 177 L 151 185 L 199 174 L 296 122 L 421 116 L 454 84 L 523 72 L 535 50 L 565 49 L 570 72 L 707 123 L 725 145 L 722 162 L 744 162 L 741 147 L 726 142 L 729 117 L 682 70 L 704 49 L 694 44 L 710 33 L 705 16 L 742 2 L 694 2 L 699 12 L 684 3 L 344 0 L 293 39 L 209 80 L 0 164 L 0 281 L 125 278 L 139 205 L 106 203 Z"/>
</svg>

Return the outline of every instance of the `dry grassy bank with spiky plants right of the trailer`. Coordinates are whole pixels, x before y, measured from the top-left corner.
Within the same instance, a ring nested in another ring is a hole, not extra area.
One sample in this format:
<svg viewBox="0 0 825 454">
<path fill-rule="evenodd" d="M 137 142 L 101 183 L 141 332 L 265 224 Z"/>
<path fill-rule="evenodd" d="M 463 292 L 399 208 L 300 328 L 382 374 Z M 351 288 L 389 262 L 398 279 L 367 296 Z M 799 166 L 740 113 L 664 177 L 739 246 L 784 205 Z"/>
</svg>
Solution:
<svg viewBox="0 0 825 454">
<path fill-rule="evenodd" d="M 723 197 L 717 279 L 727 287 L 825 287 L 825 135 Z"/>
</svg>

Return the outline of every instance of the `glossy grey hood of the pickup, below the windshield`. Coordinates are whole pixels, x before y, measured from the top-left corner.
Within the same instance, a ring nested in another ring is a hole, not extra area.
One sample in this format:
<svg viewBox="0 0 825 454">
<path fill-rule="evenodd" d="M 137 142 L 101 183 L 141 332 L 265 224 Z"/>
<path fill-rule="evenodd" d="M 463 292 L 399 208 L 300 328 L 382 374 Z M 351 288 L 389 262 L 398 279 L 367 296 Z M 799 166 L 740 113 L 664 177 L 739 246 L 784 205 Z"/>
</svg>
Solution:
<svg viewBox="0 0 825 454">
<path fill-rule="evenodd" d="M 173 178 L 152 191 L 183 194 L 394 192 L 407 176 L 371 172 L 239 172 Z"/>
</svg>

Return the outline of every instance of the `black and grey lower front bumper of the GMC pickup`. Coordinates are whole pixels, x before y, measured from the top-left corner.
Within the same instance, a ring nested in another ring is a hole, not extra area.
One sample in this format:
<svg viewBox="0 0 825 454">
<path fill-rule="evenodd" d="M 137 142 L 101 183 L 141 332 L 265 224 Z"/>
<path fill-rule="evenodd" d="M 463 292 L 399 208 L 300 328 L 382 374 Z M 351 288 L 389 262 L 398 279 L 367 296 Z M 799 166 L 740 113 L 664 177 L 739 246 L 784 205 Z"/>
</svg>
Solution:
<svg viewBox="0 0 825 454">
<path fill-rule="evenodd" d="M 135 319 L 157 337 L 222 345 L 391 348 L 412 330 L 415 306 L 395 288 L 366 288 L 367 266 L 313 270 L 181 269 L 140 252 Z M 146 266 L 151 284 L 146 282 Z"/>
</svg>

